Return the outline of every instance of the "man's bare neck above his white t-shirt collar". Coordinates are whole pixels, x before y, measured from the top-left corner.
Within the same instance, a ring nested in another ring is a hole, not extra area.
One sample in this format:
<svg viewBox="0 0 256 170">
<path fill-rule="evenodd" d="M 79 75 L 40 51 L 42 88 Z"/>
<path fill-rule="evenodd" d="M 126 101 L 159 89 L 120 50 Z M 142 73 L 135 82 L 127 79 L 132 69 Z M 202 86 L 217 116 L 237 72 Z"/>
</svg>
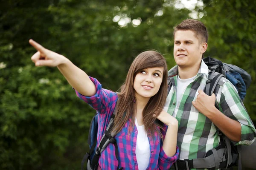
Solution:
<svg viewBox="0 0 256 170">
<path fill-rule="evenodd" d="M 191 77 L 194 77 L 198 74 L 199 68 L 201 66 L 201 62 L 197 65 L 193 65 L 192 67 L 180 67 L 178 66 L 178 73 L 180 79 L 189 79 Z"/>
</svg>

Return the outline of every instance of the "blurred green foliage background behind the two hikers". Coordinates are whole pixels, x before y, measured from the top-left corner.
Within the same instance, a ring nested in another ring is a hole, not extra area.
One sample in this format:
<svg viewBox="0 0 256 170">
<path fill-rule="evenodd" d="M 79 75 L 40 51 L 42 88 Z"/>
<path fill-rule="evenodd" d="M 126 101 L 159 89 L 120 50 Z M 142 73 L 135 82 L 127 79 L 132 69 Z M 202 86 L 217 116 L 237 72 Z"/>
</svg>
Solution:
<svg viewBox="0 0 256 170">
<path fill-rule="evenodd" d="M 208 28 L 205 56 L 252 77 L 244 104 L 256 121 L 255 0 L 1 0 L 0 169 L 79 170 L 95 111 L 57 68 L 36 68 L 30 38 L 63 54 L 116 91 L 141 51 L 173 59 L 174 26 L 186 18 Z"/>
</svg>

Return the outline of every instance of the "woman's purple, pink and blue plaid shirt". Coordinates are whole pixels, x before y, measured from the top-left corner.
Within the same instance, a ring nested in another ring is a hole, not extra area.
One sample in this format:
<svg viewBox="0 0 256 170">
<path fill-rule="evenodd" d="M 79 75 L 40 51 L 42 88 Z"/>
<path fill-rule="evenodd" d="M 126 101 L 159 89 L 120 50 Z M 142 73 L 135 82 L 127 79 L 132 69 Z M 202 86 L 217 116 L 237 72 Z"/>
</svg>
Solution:
<svg viewBox="0 0 256 170">
<path fill-rule="evenodd" d="M 117 101 L 117 94 L 103 89 L 102 85 L 94 78 L 90 77 L 96 86 L 96 94 L 91 97 L 83 96 L 76 91 L 77 96 L 87 102 L 92 108 L 94 108 L 99 113 L 98 118 L 98 134 L 97 134 L 97 146 L 99 146 L 100 139 L 105 132 L 108 123 L 111 119 L 111 115 L 114 111 Z M 131 136 L 128 135 L 128 128 L 131 128 L 131 119 L 126 122 L 122 130 L 116 134 L 115 139 L 118 145 L 119 151 L 119 162 L 120 166 L 124 170 L 138 170 L 138 164 L 136 159 L 136 142 L 137 142 L 137 127 L 134 124 L 134 129 L 132 130 Z M 164 127 L 163 136 L 167 126 Z M 148 134 L 148 140 L 150 145 L 150 160 L 147 170 L 167 170 L 172 164 L 177 160 L 179 155 L 179 149 L 177 147 L 176 154 L 172 157 L 168 157 L 163 150 L 163 142 L 160 136 L 155 132 L 154 137 Z M 106 149 L 102 152 L 99 157 L 99 166 L 102 170 L 116 170 L 118 166 L 118 161 L 115 156 L 115 146 L 110 143 Z"/>
</svg>

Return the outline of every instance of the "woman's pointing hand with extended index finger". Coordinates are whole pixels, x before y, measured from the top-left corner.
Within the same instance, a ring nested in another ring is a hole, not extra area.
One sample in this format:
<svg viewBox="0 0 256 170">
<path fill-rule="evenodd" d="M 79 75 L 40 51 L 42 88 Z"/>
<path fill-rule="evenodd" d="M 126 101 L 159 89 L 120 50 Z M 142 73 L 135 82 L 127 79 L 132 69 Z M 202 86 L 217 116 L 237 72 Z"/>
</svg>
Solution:
<svg viewBox="0 0 256 170">
<path fill-rule="evenodd" d="M 38 51 L 31 57 L 35 66 L 56 67 L 68 61 L 66 57 L 44 48 L 32 39 L 29 40 L 29 43 Z"/>
</svg>

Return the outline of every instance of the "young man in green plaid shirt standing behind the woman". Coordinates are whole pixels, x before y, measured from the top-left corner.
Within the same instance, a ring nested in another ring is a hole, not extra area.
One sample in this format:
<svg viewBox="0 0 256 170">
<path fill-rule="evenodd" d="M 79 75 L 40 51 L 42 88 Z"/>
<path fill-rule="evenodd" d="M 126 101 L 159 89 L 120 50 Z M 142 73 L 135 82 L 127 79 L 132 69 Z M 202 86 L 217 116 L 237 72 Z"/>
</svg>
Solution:
<svg viewBox="0 0 256 170">
<path fill-rule="evenodd" d="M 172 88 L 165 110 L 179 122 L 180 160 L 204 158 L 208 150 L 218 146 L 216 127 L 236 144 L 250 145 L 256 137 L 255 127 L 229 81 L 225 80 L 212 96 L 203 92 L 209 76 L 202 60 L 207 39 L 207 28 L 197 20 L 184 20 L 174 30 L 173 55 L 177 65 L 169 70 Z"/>
</svg>

